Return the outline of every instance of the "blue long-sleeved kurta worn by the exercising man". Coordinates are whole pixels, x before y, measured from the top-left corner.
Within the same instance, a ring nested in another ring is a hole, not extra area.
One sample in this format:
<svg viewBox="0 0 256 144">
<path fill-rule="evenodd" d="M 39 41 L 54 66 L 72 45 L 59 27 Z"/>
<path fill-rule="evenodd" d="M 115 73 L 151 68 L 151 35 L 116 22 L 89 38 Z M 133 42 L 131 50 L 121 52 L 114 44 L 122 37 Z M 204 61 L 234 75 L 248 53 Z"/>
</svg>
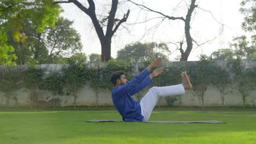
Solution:
<svg viewBox="0 0 256 144">
<path fill-rule="evenodd" d="M 133 100 L 131 96 L 152 82 L 148 75 L 149 71 L 144 69 L 132 81 L 128 81 L 125 85 L 112 88 L 113 104 L 115 109 L 123 116 L 123 121 L 143 121 L 141 105 L 139 105 L 139 101 Z"/>
</svg>

